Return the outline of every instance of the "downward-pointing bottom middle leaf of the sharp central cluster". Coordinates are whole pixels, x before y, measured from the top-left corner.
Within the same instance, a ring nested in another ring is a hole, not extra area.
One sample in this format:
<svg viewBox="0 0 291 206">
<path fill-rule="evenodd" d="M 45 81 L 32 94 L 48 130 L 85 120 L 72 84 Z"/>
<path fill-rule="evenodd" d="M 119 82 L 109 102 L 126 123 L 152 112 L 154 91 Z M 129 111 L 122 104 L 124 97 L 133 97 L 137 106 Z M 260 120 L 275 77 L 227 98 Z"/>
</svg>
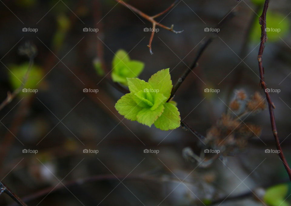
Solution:
<svg viewBox="0 0 291 206">
<path fill-rule="evenodd" d="M 156 110 L 151 110 L 150 108 L 143 108 L 137 114 L 137 121 L 141 124 L 147 125 L 149 127 L 162 115 L 164 111 L 164 106 L 160 104 Z"/>
</svg>

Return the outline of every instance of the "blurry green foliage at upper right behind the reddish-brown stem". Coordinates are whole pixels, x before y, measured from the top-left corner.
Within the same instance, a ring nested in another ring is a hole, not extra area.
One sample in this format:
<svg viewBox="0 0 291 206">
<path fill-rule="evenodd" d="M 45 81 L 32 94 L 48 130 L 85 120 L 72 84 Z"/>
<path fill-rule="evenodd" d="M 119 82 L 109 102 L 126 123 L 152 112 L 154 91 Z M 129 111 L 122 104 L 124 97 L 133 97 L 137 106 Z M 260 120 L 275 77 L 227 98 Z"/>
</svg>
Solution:
<svg viewBox="0 0 291 206">
<path fill-rule="evenodd" d="M 262 13 L 260 11 L 259 13 Z M 272 13 L 270 11 L 267 12 L 266 20 L 267 20 L 267 37 L 268 41 L 275 42 L 280 40 L 280 37 L 283 38 L 286 36 L 290 29 L 290 22 L 289 20 L 285 18 L 285 15 L 279 14 L 279 13 Z M 283 20 L 284 19 L 284 20 Z M 250 39 L 252 41 L 258 42 L 261 38 L 261 25 L 259 25 L 259 17 L 257 17 L 251 34 Z"/>
</svg>

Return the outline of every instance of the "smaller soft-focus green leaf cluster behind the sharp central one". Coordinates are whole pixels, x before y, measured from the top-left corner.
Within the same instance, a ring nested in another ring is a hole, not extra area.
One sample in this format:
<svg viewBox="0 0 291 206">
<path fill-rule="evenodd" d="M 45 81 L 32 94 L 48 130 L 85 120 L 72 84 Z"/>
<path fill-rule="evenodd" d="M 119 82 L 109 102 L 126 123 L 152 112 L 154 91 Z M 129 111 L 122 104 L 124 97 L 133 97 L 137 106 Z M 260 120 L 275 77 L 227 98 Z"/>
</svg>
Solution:
<svg viewBox="0 0 291 206">
<path fill-rule="evenodd" d="M 120 49 L 116 52 L 112 61 L 112 80 L 127 86 L 126 78 L 138 77 L 144 66 L 143 62 L 130 60 L 128 54 Z"/>
</svg>

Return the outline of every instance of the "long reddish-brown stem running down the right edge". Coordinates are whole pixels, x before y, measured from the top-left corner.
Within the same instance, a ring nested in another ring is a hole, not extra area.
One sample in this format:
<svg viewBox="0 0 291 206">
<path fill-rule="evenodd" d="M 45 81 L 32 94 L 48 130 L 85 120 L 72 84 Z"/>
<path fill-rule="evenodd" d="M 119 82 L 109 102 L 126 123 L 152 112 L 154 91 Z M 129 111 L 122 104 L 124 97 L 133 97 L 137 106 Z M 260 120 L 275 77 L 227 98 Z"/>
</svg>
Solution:
<svg viewBox="0 0 291 206">
<path fill-rule="evenodd" d="M 272 131 L 273 131 L 273 135 L 275 137 L 276 140 L 276 146 L 277 149 L 280 151 L 279 152 L 279 157 L 280 159 L 283 161 L 284 163 L 284 167 L 289 175 L 289 179 L 291 181 L 291 169 L 287 163 L 287 160 L 283 154 L 283 150 L 281 148 L 280 145 L 280 141 L 279 141 L 279 137 L 278 137 L 278 132 L 277 132 L 277 128 L 276 128 L 276 121 L 275 121 L 275 115 L 274 115 L 274 109 L 275 109 L 275 105 L 271 100 L 271 96 L 269 95 L 269 93 L 267 92 L 267 86 L 264 80 L 264 67 L 263 67 L 263 52 L 264 52 L 264 48 L 265 48 L 265 42 L 267 40 L 267 32 L 266 32 L 266 14 L 267 14 L 267 9 L 269 6 L 269 0 L 265 1 L 264 4 L 264 8 L 263 8 L 263 12 L 262 15 L 259 18 L 259 24 L 261 25 L 261 43 L 260 43 L 260 47 L 259 47 L 259 54 L 258 54 L 258 62 L 259 62 L 259 73 L 260 73 L 260 85 L 262 87 L 262 89 L 265 92 L 266 98 L 267 98 L 267 102 L 268 102 L 268 106 L 269 106 L 269 113 L 270 113 L 270 120 L 271 120 L 271 126 L 272 126 Z"/>
</svg>

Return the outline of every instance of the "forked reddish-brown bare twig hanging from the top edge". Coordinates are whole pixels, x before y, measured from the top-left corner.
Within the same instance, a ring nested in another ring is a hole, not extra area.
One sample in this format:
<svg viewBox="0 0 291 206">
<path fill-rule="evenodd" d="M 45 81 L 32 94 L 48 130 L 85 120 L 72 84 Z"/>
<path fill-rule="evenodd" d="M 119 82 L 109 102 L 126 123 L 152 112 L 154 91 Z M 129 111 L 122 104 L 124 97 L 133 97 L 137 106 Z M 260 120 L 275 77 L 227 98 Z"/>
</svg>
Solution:
<svg viewBox="0 0 291 206">
<path fill-rule="evenodd" d="M 127 8 L 129 8 L 129 9 L 132 10 L 133 12 L 137 13 L 138 15 L 140 15 L 142 18 L 144 18 L 144 19 L 146 19 L 146 20 L 148 20 L 149 22 L 152 23 L 152 34 L 151 34 L 151 37 L 150 37 L 150 39 L 149 39 L 149 45 L 148 45 L 148 47 L 149 47 L 149 52 L 150 52 L 151 54 L 153 54 L 153 52 L 152 52 L 152 40 L 153 40 L 154 35 L 155 35 L 155 32 L 156 32 L 156 26 L 159 26 L 159 27 L 161 27 L 161 28 L 163 28 L 163 29 L 166 29 L 166 30 L 168 30 L 168 31 L 170 31 L 170 32 L 173 32 L 173 33 L 176 33 L 176 34 L 181 33 L 181 32 L 184 31 L 184 30 L 182 30 L 182 31 L 175 31 L 175 30 L 174 30 L 174 25 L 171 25 L 171 27 L 167 27 L 167 26 L 165 26 L 165 25 L 163 25 L 163 24 L 161 24 L 161 23 L 159 23 L 159 22 L 157 22 L 157 21 L 155 20 L 155 18 L 157 18 L 157 17 L 159 17 L 159 16 L 165 14 L 165 13 L 168 12 L 171 8 L 173 8 L 177 1 L 175 1 L 174 3 L 172 3 L 172 5 L 171 5 L 169 8 L 167 8 L 166 10 L 164 10 L 163 12 L 161 12 L 161 13 L 159 13 L 159 14 L 157 14 L 157 15 L 153 15 L 153 16 L 149 16 L 149 15 L 143 13 L 143 12 L 140 11 L 139 9 L 133 7 L 132 5 L 130 5 L 130 4 L 126 3 L 126 2 L 123 2 L 122 0 L 115 0 L 115 1 L 118 2 L 118 3 L 120 3 L 121 5 L 123 5 L 123 6 L 127 7 Z"/>
</svg>

